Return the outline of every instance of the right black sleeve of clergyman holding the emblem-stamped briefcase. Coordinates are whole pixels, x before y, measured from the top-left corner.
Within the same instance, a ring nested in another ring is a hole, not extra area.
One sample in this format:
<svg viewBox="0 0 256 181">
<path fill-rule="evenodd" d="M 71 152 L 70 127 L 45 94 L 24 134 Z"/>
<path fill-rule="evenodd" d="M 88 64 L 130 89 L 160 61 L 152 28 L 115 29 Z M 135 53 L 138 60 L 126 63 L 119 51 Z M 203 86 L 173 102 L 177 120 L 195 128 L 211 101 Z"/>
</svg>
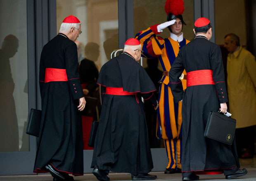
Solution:
<svg viewBox="0 0 256 181">
<path fill-rule="evenodd" d="M 211 51 L 211 69 L 213 71 L 213 81 L 218 93 L 219 102 L 228 102 L 222 55 L 218 45 L 213 47 Z"/>
</svg>

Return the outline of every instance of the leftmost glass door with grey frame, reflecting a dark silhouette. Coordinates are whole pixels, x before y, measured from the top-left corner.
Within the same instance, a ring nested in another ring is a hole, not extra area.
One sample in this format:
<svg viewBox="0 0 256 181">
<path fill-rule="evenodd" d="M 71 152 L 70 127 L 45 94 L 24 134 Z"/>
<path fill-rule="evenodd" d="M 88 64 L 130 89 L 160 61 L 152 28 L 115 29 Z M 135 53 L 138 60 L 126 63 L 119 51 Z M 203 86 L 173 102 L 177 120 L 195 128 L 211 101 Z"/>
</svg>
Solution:
<svg viewBox="0 0 256 181">
<path fill-rule="evenodd" d="M 26 125 L 36 108 L 35 31 L 26 14 L 33 0 L 0 1 L 0 175 L 33 173 L 36 138 Z"/>
</svg>

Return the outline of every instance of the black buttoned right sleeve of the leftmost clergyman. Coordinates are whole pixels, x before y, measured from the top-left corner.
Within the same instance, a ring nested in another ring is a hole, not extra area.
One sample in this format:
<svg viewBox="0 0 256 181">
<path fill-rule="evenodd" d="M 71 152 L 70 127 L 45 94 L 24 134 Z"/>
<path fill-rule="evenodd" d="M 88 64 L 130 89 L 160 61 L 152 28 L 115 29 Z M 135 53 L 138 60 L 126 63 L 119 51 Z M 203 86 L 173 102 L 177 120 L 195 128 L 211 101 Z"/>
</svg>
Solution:
<svg viewBox="0 0 256 181">
<path fill-rule="evenodd" d="M 69 88 L 74 100 L 83 97 L 83 90 L 78 74 L 78 57 L 75 43 L 69 44 L 65 49 L 66 74 Z"/>
</svg>

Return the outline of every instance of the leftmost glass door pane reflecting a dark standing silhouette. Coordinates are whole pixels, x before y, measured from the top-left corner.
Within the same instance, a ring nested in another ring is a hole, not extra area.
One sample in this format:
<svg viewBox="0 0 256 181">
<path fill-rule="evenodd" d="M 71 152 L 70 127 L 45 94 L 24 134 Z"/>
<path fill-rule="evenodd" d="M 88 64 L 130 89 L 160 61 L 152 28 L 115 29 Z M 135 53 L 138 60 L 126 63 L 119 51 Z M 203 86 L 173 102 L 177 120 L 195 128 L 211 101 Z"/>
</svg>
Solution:
<svg viewBox="0 0 256 181">
<path fill-rule="evenodd" d="M 0 151 L 29 151 L 26 0 L 0 4 Z"/>
</svg>

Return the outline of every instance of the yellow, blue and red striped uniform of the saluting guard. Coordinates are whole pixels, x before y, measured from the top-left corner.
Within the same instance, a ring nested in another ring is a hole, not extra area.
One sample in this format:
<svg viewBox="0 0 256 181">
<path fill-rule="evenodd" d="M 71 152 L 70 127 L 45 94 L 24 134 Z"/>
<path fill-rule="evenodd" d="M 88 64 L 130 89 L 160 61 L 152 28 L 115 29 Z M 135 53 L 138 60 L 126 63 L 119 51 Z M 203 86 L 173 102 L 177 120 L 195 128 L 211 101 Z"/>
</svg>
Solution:
<svg viewBox="0 0 256 181">
<path fill-rule="evenodd" d="M 151 26 L 146 30 L 143 30 L 137 35 L 137 38 L 143 50 L 143 55 L 146 58 L 158 58 L 161 67 L 164 71 L 168 72 L 171 69 L 171 65 L 174 62 L 179 50 L 185 46 L 189 41 L 183 39 L 181 42 L 177 42 L 171 37 L 163 39 L 156 29 L 157 25 Z M 183 74 L 186 74 L 184 71 Z M 169 77 L 163 75 L 159 81 L 159 109 L 158 119 L 156 124 L 156 136 L 159 139 L 164 139 L 166 153 L 168 155 L 169 168 L 181 168 L 181 148 L 182 148 L 182 117 L 181 107 L 182 103 L 175 103 L 173 101 L 173 95 L 171 88 L 169 87 Z M 186 80 L 182 80 L 183 88 L 186 88 Z"/>
</svg>

